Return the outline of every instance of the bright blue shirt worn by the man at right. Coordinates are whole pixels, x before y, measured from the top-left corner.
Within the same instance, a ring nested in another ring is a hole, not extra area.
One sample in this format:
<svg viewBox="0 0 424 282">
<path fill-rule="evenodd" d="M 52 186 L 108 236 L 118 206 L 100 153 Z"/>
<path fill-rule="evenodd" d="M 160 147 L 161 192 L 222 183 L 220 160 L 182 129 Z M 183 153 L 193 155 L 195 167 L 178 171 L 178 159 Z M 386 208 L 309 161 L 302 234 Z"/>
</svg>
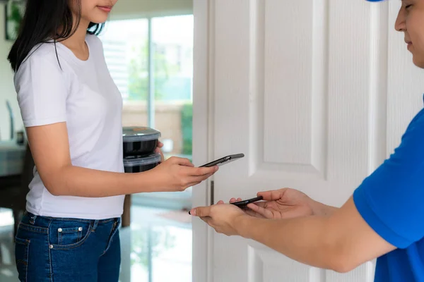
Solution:
<svg viewBox="0 0 424 282">
<path fill-rule="evenodd" d="M 375 281 L 424 282 L 424 109 L 353 200 L 371 228 L 397 247 L 377 259 Z"/>
</svg>

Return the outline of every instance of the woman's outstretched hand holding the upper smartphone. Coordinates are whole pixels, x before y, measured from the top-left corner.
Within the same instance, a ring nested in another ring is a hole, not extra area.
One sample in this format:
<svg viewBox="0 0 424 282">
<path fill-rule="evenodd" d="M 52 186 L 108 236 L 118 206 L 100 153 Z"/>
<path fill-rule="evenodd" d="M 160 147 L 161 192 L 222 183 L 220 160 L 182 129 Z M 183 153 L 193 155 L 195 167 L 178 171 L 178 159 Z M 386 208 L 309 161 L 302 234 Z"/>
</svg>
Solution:
<svg viewBox="0 0 424 282">
<path fill-rule="evenodd" d="M 197 168 L 188 160 L 170 157 L 148 173 L 151 173 L 155 192 L 184 191 L 197 185 L 218 171 L 218 166 Z"/>
</svg>

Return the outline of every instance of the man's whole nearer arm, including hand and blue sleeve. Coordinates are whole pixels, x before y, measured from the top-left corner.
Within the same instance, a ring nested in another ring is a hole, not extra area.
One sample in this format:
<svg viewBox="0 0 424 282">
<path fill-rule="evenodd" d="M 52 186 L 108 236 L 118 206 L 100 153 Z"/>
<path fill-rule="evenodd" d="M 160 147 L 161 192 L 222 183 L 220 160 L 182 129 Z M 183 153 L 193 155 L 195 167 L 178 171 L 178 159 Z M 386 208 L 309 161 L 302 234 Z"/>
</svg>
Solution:
<svg viewBox="0 0 424 282">
<path fill-rule="evenodd" d="M 194 208 L 192 214 L 219 233 L 252 238 L 299 262 L 351 271 L 423 239 L 423 137 L 424 111 L 389 159 L 330 216 L 256 219 L 230 204 Z"/>
</svg>

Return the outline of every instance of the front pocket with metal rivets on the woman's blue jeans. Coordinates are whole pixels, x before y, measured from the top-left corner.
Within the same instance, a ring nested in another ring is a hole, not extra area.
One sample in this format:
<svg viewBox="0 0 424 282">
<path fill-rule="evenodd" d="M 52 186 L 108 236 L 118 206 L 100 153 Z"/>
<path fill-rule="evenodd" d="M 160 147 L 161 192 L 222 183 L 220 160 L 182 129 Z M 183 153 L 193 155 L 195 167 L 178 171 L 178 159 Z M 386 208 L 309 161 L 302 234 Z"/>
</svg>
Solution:
<svg viewBox="0 0 424 282">
<path fill-rule="evenodd" d="M 83 221 L 57 221 L 50 227 L 50 243 L 59 248 L 78 247 L 90 235 L 91 225 Z"/>
</svg>

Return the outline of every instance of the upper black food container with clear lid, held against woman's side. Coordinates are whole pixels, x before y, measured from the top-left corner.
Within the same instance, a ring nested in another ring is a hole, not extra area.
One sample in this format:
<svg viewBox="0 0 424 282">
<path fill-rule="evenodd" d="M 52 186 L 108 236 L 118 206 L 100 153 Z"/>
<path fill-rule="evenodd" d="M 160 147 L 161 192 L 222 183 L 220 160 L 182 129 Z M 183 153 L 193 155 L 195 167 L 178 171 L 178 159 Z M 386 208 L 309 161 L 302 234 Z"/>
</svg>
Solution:
<svg viewBox="0 0 424 282">
<path fill-rule="evenodd" d="M 153 128 L 134 126 L 122 128 L 124 157 L 151 154 L 158 147 L 160 132 Z"/>
</svg>

